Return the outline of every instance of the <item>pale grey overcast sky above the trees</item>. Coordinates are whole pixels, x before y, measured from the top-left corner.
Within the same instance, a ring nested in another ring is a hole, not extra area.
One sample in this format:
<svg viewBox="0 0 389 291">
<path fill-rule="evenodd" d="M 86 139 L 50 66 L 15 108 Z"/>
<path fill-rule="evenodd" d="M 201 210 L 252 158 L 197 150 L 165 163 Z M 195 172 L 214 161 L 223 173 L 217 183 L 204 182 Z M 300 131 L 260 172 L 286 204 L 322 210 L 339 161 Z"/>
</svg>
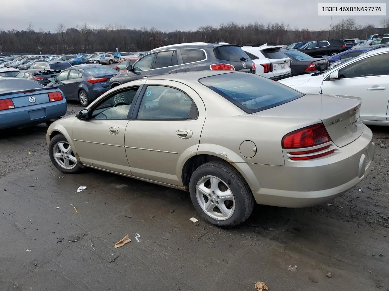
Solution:
<svg viewBox="0 0 389 291">
<path fill-rule="evenodd" d="M 325 29 L 330 16 L 317 16 L 317 3 L 332 0 L 67 0 L 0 1 L 0 30 L 26 29 L 31 22 L 39 31 L 54 32 L 58 23 L 65 28 L 88 23 L 93 28 L 117 23 L 126 28 L 155 27 L 162 31 L 189 30 L 199 26 L 258 21 L 284 22 L 293 29 Z M 342 2 L 388 3 L 389 0 L 349 0 Z M 387 4 L 389 7 L 389 5 Z M 357 24 L 380 27 L 384 16 L 356 16 Z M 334 16 L 336 23 L 347 16 Z"/>
</svg>

